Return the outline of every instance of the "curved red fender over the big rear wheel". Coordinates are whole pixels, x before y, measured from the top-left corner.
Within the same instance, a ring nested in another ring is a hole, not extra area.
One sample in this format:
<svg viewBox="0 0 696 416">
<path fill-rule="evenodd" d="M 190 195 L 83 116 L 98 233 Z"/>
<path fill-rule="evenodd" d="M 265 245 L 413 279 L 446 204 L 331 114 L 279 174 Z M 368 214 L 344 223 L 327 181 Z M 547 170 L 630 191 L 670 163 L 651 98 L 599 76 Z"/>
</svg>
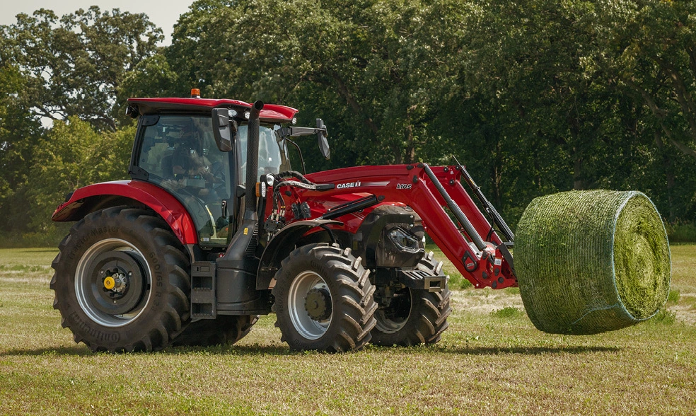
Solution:
<svg viewBox="0 0 696 416">
<path fill-rule="evenodd" d="M 117 205 L 149 207 L 169 224 L 183 245 L 197 244 L 193 219 L 173 195 L 140 180 L 117 180 L 81 187 L 53 212 L 53 221 L 79 221 L 90 212 Z"/>
</svg>

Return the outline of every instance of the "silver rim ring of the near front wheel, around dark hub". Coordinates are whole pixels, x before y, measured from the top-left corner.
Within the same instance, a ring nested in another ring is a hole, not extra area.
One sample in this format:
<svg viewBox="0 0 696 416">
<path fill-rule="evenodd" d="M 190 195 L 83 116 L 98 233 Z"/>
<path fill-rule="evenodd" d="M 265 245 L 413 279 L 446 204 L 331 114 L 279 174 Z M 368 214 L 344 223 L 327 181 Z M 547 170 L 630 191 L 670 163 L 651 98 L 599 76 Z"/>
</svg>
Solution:
<svg viewBox="0 0 696 416">
<path fill-rule="evenodd" d="M 302 337 L 308 340 L 317 340 L 322 337 L 331 325 L 333 311 L 328 317 L 313 318 L 307 311 L 307 295 L 315 289 L 328 294 L 327 303 L 332 305 L 330 291 L 325 280 L 315 272 L 302 272 L 293 279 L 288 294 L 288 312 L 292 325 Z"/>
</svg>

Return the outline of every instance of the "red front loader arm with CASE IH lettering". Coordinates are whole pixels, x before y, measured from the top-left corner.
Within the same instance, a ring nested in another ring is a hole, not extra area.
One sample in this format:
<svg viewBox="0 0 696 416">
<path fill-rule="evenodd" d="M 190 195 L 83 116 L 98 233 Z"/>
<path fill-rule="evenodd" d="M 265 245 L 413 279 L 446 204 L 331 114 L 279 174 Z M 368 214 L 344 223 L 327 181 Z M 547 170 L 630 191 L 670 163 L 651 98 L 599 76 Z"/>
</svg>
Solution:
<svg viewBox="0 0 696 416">
<path fill-rule="evenodd" d="M 507 246 L 464 189 L 460 166 L 358 166 L 306 177 L 334 187 L 324 191 L 292 188 L 296 201 L 366 193 L 375 195 L 381 203 L 407 204 L 421 216 L 429 236 L 474 287 L 517 286 Z"/>
</svg>

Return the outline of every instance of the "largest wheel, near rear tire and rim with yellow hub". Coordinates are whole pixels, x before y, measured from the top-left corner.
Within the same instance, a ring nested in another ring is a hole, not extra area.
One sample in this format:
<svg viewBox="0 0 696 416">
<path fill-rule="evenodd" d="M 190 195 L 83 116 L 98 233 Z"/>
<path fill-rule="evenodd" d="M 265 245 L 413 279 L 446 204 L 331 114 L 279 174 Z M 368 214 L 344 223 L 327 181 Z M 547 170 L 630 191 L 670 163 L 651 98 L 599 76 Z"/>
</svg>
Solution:
<svg viewBox="0 0 696 416">
<path fill-rule="evenodd" d="M 53 307 L 92 351 L 157 351 L 190 318 L 190 262 L 153 212 L 112 207 L 78 221 L 59 245 Z"/>
</svg>

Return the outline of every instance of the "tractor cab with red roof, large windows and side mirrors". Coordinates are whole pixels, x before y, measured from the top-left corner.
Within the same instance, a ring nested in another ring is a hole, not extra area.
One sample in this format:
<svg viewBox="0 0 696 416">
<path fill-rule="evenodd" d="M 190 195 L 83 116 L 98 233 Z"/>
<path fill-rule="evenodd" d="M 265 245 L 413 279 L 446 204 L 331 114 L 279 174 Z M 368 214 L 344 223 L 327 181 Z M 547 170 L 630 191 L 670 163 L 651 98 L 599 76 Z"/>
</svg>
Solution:
<svg viewBox="0 0 696 416">
<path fill-rule="evenodd" d="M 238 100 L 199 98 L 195 91 L 192 98 L 128 100 L 127 114 L 139 117 L 129 173 L 163 188 L 183 204 L 195 223 L 201 248 L 229 245 L 243 214 L 250 108 Z M 289 138 L 316 131 L 289 127 L 296 112 L 284 105 L 266 105 L 262 110 L 255 180 L 289 171 L 286 144 L 294 144 Z M 321 148 L 327 154 L 325 141 L 324 134 Z"/>
</svg>

